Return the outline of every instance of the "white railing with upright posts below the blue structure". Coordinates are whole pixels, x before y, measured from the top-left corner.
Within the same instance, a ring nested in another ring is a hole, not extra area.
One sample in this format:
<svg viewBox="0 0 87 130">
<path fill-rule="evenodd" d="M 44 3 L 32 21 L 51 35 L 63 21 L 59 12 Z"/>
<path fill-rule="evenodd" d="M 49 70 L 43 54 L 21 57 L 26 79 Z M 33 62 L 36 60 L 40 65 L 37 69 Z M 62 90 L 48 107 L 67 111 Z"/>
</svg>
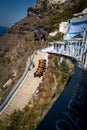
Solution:
<svg viewBox="0 0 87 130">
<path fill-rule="evenodd" d="M 58 44 L 55 44 L 56 42 L 52 42 L 52 45 L 47 48 L 48 52 L 53 52 L 57 54 L 62 54 L 66 56 L 70 56 L 75 58 L 76 60 L 81 61 L 82 63 L 85 64 L 86 66 L 86 55 L 87 55 L 87 40 L 83 42 L 81 41 L 74 41 L 74 45 L 71 43 L 67 42 L 66 46 L 65 43 L 62 45 L 61 42 L 58 42 Z M 49 43 L 50 44 L 50 43 Z M 56 46 L 55 46 L 56 45 Z"/>
</svg>

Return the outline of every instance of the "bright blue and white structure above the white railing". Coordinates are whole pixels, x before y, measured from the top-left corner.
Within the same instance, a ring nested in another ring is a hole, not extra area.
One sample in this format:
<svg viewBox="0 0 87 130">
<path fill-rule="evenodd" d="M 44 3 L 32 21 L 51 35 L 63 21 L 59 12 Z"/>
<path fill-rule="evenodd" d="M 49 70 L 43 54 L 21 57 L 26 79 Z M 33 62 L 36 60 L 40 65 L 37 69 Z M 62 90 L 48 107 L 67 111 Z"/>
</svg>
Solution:
<svg viewBox="0 0 87 130">
<path fill-rule="evenodd" d="M 65 40 L 72 40 L 76 37 L 87 36 L 87 15 L 72 18 L 70 20 L 69 29 L 65 36 Z"/>
</svg>

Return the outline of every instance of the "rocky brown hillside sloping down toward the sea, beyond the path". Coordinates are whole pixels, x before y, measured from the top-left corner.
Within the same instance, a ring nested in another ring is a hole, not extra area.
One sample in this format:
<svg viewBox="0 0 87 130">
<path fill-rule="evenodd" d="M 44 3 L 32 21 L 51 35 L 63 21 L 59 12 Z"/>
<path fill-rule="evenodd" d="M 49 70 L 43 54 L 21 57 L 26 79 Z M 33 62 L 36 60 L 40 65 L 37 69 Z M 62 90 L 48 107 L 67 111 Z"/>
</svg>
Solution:
<svg viewBox="0 0 87 130">
<path fill-rule="evenodd" d="M 71 13 L 82 11 L 86 5 L 86 0 L 68 0 L 54 6 L 48 0 L 38 1 L 27 9 L 24 19 L 0 37 L 0 102 L 23 74 L 28 57 L 46 45 L 41 36 L 47 40 L 48 33 L 58 29 L 61 21 L 72 17 Z M 3 88 L 9 79 L 12 84 Z"/>
</svg>

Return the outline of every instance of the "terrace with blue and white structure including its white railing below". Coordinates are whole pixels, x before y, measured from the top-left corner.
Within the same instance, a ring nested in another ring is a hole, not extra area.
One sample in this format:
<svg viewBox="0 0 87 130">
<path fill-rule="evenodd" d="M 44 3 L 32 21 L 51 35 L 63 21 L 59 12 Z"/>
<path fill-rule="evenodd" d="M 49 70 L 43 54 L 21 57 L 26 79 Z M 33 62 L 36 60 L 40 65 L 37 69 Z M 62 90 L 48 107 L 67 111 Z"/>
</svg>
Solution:
<svg viewBox="0 0 87 130">
<path fill-rule="evenodd" d="M 75 58 L 87 68 L 87 16 L 71 19 L 64 41 L 49 42 L 44 51 Z"/>
</svg>

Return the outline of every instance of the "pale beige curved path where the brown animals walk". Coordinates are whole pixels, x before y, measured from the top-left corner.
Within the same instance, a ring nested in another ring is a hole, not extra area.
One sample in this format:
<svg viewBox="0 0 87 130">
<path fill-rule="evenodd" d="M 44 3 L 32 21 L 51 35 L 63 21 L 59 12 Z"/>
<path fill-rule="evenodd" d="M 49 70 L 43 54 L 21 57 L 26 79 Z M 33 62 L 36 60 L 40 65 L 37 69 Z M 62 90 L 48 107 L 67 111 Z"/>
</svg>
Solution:
<svg viewBox="0 0 87 130">
<path fill-rule="evenodd" d="M 32 98 L 32 95 L 35 93 L 39 83 L 43 77 L 34 77 L 34 72 L 38 67 L 38 60 L 45 58 L 46 53 L 38 52 L 33 59 L 35 67 L 30 66 L 30 71 L 27 73 L 24 81 L 21 83 L 11 100 L 8 102 L 6 107 L 0 113 L 0 118 L 5 118 L 7 114 L 11 114 L 14 110 L 23 109 L 25 105 Z"/>
</svg>

